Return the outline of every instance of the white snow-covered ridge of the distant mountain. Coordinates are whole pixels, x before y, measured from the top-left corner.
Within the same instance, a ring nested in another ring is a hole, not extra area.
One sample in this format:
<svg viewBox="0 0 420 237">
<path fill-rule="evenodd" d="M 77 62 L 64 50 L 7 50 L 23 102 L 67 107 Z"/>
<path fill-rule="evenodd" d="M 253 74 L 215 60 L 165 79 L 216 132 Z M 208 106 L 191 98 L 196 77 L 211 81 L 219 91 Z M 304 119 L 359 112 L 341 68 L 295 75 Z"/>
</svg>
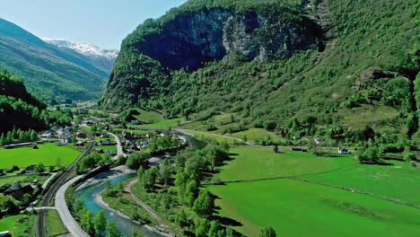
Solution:
<svg viewBox="0 0 420 237">
<path fill-rule="evenodd" d="M 115 59 L 118 56 L 118 50 L 102 49 L 89 43 L 76 43 L 69 40 L 50 40 L 42 39 L 50 44 L 56 45 L 59 48 L 71 48 L 80 54 L 88 57 L 106 57 L 108 59 Z"/>
</svg>

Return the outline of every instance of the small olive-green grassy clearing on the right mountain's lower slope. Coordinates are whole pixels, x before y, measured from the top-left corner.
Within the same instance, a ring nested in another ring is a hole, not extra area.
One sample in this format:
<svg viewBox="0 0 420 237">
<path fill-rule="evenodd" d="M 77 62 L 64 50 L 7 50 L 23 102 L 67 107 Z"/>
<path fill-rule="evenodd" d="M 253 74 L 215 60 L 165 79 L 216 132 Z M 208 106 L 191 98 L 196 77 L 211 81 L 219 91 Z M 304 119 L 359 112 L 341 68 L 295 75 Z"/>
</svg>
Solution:
<svg viewBox="0 0 420 237">
<path fill-rule="evenodd" d="M 346 126 L 353 129 L 363 129 L 372 123 L 398 117 L 398 110 L 386 106 L 363 105 L 354 109 L 343 109 L 337 113 L 343 118 Z"/>
</svg>

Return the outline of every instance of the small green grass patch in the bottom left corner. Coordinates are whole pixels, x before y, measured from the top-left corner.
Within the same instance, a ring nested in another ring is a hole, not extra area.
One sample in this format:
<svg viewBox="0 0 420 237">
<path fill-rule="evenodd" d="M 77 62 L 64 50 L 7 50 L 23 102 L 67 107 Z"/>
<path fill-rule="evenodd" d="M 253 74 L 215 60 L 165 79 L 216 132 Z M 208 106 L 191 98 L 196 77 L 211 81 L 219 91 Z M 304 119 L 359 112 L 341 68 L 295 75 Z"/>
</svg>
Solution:
<svg viewBox="0 0 420 237">
<path fill-rule="evenodd" d="M 12 215 L 0 219 L 0 232 L 10 231 L 12 236 L 35 236 L 35 215 Z"/>
</svg>

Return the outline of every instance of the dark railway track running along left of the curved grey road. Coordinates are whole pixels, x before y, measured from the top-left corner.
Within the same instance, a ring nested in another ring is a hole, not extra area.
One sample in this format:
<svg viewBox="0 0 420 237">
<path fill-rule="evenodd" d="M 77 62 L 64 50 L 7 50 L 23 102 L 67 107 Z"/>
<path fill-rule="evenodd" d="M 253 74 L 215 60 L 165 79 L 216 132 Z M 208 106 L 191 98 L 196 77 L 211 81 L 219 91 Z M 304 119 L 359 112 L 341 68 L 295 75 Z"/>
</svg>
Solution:
<svg viewBox="0 0 420 237">
<path fill-rule="evenodd" d="M 89 133 L 86 130 L 85 130 L 85 133 L 89 136 L 89 139 L 91 141 L 94 140 L 91 133 Z M 73 162 L 73 164 L 70 165 L 70 167 L 67 169 L 67 171 L 65 171 L 63 174 L 61 174 L 61 176 L 57 179 L 57 181 L 54 182 L 51 185 L 51 187 L 47 190 L 44 197 L 42 198 L 42 202 L 41 202 L 40 206 L 48 206 L 49 205 L 49 203 L 54 198 L 54 195 L 57 193 L 57 190 L 66 182 L 68 177 L 70 177 L 70 175 L 73 173 L 74 167 L 76 166 L 76 164 L 78 162 L 80 162 L 83 159 L 84 156 L 91 153 L 93 145 L 94 145 L 94 143 L 89 143 L 86 150 L 76 160 L 76 162 Z M 46 225 L 46 222 L 45 222 L 46 216 L 47 216 L 47 211 L 48 210 L 45 210 L 45 209 L 39 210 L 39 215 L 37 216 L 37 220 L 36 220 L 36 233 L 35 233 L 35 235 L 37 237 L 48 236 L 47 225 Z"/>
</svg>

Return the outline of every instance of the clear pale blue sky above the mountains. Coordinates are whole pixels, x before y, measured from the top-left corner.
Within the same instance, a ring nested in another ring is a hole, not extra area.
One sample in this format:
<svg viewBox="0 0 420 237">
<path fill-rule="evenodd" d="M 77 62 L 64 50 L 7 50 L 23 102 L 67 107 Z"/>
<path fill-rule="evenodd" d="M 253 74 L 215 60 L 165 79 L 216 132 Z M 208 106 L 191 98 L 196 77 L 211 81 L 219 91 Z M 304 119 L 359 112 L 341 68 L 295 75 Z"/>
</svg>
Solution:
<svg viewBox="0 0 420 237">
<path fill-rule="evenodd" d="M 187 0 L 0 0 L 0 17 L 39 38 L 118 49 L 149 18 Z"/>
</svg>

